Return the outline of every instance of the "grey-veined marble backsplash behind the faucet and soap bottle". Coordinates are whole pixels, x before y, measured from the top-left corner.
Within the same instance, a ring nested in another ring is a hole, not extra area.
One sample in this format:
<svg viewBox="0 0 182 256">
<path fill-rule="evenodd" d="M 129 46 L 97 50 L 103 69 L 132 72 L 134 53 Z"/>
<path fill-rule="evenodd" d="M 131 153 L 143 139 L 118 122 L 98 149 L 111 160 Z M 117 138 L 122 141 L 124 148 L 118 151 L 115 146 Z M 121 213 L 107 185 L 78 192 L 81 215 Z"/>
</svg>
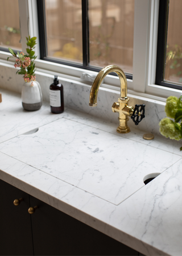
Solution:
<svg viewBox="0 0 182 256">
<path fill-rule="evenodd" d="M 21 75 L 16 75 L 13 66 L 0 64 L 0 92 L 1 88 L 21 93 L 23 79 Z M 100 87 L 98 92 L 97 107 L 89 107 L 89 93 L 90 85 L 73 81 L 71 79 L 60 77 L 59 81 L 64 85 L 64 101 L 65 107 L 69 109 L 76 109 L 110 122 L 118 124 L 118 114 L 113 113 L 111 106 L 114 102 L 118 101 L 119 91 L 106 89 Z M 53 82 L 53 75 L 44 74 L 39 71 L 36 72 L 36 79 L 42 88 L 43 100 L 49 102 L 49 85 Z M 164 111 L 165 102 L 155 101 L 144 97 L 138 97 L 128 94 L 130 98 L 129 105 L 135 104 L 146 105 L 146 118 L 139 123 L 138 126 L 130 119 L 128 125 L 132 129 L 143 130 L 146 133 L 160 134 L 159 122 L 162 118 L 166 117 Z M 2 95 L 3 98 L 3 95 Z"/>
</svg>

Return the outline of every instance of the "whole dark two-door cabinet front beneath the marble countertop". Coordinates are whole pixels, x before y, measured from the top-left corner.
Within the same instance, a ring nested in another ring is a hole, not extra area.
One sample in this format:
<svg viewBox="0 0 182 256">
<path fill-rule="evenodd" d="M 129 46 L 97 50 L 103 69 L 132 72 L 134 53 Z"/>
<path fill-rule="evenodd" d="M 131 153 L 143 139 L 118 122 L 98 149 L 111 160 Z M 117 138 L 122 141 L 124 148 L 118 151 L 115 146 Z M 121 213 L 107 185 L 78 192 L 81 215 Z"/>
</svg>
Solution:
<svg viewBox="0 0 182 256">
<path fill-rule="evenodd" d="M 0 180 L 0 255 L 138 255 L 138 252 Z M 14 206 L 15 198 L 23 198 Z M 38 206 L 34 214 L 29 207 Z"/>
</svg>

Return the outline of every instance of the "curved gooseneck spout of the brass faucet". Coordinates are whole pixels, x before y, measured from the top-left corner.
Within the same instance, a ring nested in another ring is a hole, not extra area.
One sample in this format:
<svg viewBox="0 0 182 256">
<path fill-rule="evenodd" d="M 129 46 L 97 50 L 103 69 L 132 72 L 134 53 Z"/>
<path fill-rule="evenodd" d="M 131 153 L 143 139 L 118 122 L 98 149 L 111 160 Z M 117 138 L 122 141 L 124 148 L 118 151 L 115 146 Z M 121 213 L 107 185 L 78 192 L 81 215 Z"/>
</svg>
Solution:
<svg viewBox="0 0 182 256">
<path fill-rule="evenodd" d="M 126 79 L 126 75 L 120 67 L 115 66 L 115 65 L 110 65 L 110 66 L 104 67 L 104 69 L 102 69 L 98 73 L 97 77 L 93 81 L 92 88 L 90 90 L 90 101 L 89 101 L 89 106 L 90 107 L 96 107 L 97 106 L 98 89 L 100 88 L 102 80 L 106 77 L 106 75 L 108 75 L 111 72 L 115 72 L 119 77 L 120 84 L 121 84 L 121 99 L 124 99 L 124 100 L 127 99 L 127 79 Z"/>
</svg>

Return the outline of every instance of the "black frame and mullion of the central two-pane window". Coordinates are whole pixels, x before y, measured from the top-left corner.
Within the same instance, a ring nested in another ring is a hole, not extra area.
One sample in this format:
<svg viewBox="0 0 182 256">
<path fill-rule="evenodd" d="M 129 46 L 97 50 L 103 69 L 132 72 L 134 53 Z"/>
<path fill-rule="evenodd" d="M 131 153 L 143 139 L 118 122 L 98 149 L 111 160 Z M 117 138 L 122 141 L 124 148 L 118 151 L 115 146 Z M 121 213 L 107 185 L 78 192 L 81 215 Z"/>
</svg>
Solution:
<svg viewBox="0 0 182 256">
<path fill-rule="evenodd" d="M 61 61 L 59 59 L 53 59 L 47 57 L 46 53 L 46 20 L 45 20 L 45 7 L 44 0 L 37 0 L 38 7 L 38 26 L 39 26 L 39 43 L 40 43 L 40 59 L 49 62 L 55 62 L 67 66 L 77 67 L 80 69 L 91 70 L 99 72 L 101 68 L 89 66 L 89 19 L 88 19 L 88 0 L 81 0 L 82 5 L 82 54 L 83 62 L 82 65 L 73 62 Z M 126 74 L 126 73 L 125 73 Z M 110 73 L 115 75 L 115 73 Z M 133 79 L 133 75 L 126 74 L 127 79 Z"/>
</svg>

